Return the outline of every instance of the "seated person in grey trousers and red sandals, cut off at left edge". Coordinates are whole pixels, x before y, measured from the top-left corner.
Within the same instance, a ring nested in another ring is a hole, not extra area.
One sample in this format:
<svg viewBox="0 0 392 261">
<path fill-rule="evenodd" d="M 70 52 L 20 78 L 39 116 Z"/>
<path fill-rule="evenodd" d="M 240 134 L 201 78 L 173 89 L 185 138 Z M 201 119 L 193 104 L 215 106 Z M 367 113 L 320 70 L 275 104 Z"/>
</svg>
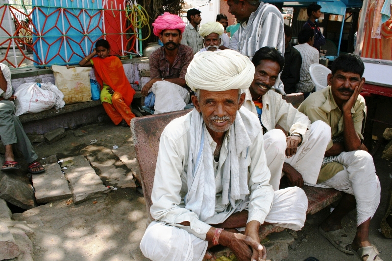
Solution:
<svg viewBox="0 0 392 261">
<path fill-rule="evenodd" d="M 22 152 L 28 165 L 28 171 L 32 174 L 44 172 L 44 167 L 37 161 L 38 155 L 23 130 L 22 123 L 15 115 L 16 96 L 13 94 L 11 85 L 11 71 L 7 65 L 0 63 L 0 135 L 5 147 L 5 162 L 1 167 L 3 172 L 13 172 L 21 168 L 15 161 L 12 145 L 16 144 Z"/>
</svg>

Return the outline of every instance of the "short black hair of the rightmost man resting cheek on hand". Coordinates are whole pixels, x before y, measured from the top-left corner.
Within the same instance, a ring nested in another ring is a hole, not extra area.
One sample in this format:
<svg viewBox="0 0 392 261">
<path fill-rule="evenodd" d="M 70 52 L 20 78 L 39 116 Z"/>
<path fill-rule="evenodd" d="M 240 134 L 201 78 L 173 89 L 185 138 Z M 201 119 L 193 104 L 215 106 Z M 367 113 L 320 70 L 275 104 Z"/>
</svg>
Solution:
<svg viewBox="0 0 392 261">
<path fill-rule="evenodd" d="M 352 53 L 341 54 L 332 63 L 332 75 L 339 70 L 342 70 L 343 72 L 357 73 L 362 78 L 365 71 L 365 65 L 358 55 Z"/>
</svg>

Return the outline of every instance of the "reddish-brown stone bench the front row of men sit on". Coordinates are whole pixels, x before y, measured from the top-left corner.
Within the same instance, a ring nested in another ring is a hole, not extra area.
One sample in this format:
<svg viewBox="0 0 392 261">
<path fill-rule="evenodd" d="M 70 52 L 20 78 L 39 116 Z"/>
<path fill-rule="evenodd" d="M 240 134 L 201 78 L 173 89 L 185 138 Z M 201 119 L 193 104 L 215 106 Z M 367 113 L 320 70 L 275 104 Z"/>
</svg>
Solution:
<svg viewBox="0 0 392 261">
<path fill-rule="evenodd" d="M 287 102 L 293 104 L 295 108 L 303 101 L 303 95 L 290 94 L 283 96 Z M 166 125 L 169 124 L 173 119 L 181 117 L 189 110 L 181 110 L 169 113 L 162 113 L 157 115 L 149 115 L 145 117 L 134 118 L 131 121 L 131 130 L 133 143 L 135 145 L 136 157 L 140 166 L 140 181 L 143 187 L 143 193 L 146 201 L 147 208 L 147 223 L 149 224 L 153 218 L 150 214 L 151 192 L 154 183 L 155 166 L 158 156 L 159 138 Z M 303 190 L 308 197 L 308 210 L 306 214 L 315 214 L 326 206 L 337 201 L 343 195 L 341 192 L 335 189 L 323 189 L 310 186 L 304 186 Z M 272 232 L 283 231 L 284 228 L 274 225 L 262 226 L 260 228 L 259 236 L 260 239 L 264 239 L 268 234 Z M 217 257 L 226 255 L 226 250 L 221 250 L 216 253 Z"/>
</svg>

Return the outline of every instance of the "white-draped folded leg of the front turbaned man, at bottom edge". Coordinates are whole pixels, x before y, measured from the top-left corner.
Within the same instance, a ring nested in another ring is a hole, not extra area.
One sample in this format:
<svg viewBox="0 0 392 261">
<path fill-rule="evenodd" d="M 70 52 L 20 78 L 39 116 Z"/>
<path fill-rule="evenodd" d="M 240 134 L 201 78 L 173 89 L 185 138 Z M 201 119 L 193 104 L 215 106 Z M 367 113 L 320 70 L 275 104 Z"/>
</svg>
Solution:
<svg viewBox="0 0 392 261">
<path fill-rule="evenodd" d="M 208 242 L 182 228 L 163 222 L 151 222 L 146 229 L 140 249 L 152 261 L 201 261 Z"/>
</svg>

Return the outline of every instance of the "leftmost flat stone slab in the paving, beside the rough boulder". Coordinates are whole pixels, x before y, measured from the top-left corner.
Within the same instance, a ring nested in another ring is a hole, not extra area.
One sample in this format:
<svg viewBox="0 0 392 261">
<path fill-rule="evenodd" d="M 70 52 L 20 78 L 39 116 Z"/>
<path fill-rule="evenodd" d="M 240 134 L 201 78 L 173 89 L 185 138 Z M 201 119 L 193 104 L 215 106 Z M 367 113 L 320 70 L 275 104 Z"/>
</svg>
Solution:
<svg viewBox="0 0 392 261">
<path fill-rule="evenodd" d="M 45 172 L 32 175 L 37 203 L 48 203 L 72 196 L 67 179 L 57 163 L 44 165 Z"/>
</svg>

